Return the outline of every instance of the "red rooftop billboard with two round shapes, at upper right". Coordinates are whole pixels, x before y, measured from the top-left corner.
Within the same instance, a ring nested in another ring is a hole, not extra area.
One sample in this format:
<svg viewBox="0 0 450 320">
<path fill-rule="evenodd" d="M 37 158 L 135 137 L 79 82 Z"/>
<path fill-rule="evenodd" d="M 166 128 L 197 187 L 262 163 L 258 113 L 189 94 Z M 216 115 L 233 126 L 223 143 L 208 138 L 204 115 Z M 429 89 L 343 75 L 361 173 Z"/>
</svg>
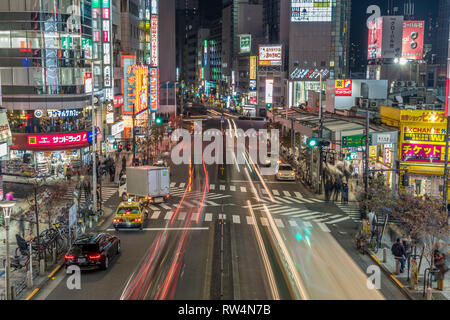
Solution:
<svg viewBox="0 0 450 320">
<path fill-rule="evenodd" d="M 423 40 L 425 21 L 404 21 L 402 58 L 408 60 L 423 59 Z"/>
</svg>

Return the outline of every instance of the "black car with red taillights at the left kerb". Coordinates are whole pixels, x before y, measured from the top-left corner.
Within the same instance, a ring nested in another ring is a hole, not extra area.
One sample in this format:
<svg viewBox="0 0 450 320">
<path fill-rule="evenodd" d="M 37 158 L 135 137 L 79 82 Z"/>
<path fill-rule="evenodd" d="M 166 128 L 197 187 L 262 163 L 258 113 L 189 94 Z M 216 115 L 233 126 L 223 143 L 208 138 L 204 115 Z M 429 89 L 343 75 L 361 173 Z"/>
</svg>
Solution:
<svg viewBox="0 0 450 320">
<path fill-rule="evenodd" d="M 120 239 L 109 233 L 88 233 L 77 237 L 64 256 L 66 267 L 108 269 L 111 260 L 120 253 Z"/>
</svg>

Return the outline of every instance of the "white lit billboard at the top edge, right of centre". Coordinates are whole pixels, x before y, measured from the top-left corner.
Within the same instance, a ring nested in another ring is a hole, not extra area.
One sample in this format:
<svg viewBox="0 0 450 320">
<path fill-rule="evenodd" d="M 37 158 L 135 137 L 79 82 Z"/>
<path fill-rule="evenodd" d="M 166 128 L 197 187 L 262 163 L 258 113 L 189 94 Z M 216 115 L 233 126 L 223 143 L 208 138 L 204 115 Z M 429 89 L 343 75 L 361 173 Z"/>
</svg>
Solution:
<svg viewBox="0 0 450 320">
<path fill-rule="evenodd" d="M 332 0 L 291 0 L 291 22 L 328 22 L 332 10 Z"/>
</svg>

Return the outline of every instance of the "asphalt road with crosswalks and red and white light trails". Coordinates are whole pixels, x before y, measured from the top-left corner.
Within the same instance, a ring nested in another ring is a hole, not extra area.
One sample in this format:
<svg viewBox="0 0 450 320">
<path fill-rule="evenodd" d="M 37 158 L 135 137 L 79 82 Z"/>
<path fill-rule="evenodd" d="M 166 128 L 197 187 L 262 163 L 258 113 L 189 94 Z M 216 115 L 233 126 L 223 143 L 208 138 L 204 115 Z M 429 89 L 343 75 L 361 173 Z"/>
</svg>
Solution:
<svg viewBox="0 0 450 320">
<path fill-rule="evenodd" d="M 232 135 L 263 127 L 202 118 L 204 129 Z M 355 222 L 300 183 L 262 177 L 247 163 L 227 164 L 223 175 L 217 164 L 171 171 L 172 198 L 154 206 L 144 231 L 119 233 L 121 254 L 107 271 L 83 272 L 81 290 L 69 290 L 61 271 L 35 299 L 402 298 L 383 275 L 381 290 L 367 288 L 371 262 L 348 240 Z M 105 206 L 115 210 L 119 201 L 115 194 Z M 111 220 L 100 229 L 115 234 Z"/>
</svg>

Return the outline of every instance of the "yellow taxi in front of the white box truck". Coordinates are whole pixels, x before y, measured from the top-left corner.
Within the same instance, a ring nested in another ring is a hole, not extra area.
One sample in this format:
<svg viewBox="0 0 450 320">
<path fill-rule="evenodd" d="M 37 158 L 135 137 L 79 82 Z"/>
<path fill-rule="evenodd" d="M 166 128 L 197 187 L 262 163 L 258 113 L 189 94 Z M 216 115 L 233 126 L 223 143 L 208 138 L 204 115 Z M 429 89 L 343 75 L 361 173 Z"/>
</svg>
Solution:
<svg viewBox="0 0 450 320">
<path fill-rule="evenodd" d="M 148 213 L 139 202 L 124 201 L 117 207 L 113 218 L 113 225 L 116 231 L 119 229 L 143 229 L 144 221 L 147 220 Z"/>
</svg>

